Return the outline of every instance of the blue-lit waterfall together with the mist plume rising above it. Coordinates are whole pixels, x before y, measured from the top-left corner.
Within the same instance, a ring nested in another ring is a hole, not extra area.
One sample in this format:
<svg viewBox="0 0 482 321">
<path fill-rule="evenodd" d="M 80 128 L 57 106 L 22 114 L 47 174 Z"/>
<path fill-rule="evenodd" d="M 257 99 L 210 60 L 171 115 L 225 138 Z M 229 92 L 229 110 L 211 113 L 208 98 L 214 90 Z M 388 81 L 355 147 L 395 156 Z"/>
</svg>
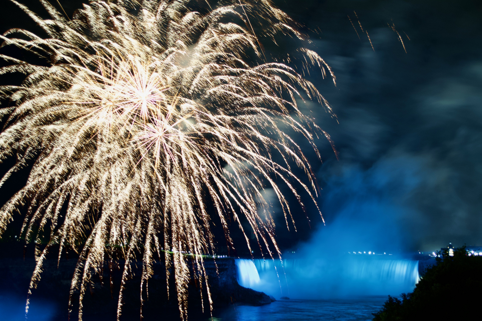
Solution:
<svg viewBox="0 0 482 321">
<path fill-rule="evenodd" d="M 338 167 L 326 181 L 326 226 L 286 251 L 282 264 L 237 261 L 239 282 L 278 298 L 411 292 L 418 261 L 405 253 L 410 234 L 403 220 L 416 212 L 410 200 L 425 177 L 420 169 L 421 161 L 409 157 L 382 159 L 369 169 Z"/>
</svg>

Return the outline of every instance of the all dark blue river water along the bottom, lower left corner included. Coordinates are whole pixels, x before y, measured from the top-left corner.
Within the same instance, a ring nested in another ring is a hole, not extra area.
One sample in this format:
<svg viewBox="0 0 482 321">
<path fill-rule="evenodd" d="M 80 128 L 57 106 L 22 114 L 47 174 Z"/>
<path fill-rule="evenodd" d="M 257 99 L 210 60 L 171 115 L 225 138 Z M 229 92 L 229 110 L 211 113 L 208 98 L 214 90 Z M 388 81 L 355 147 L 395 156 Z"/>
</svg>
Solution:
<svg viewBox="0 0 482 321">
<path fill-rule="evenodd" d="M 190 321 L 289 321 L 289 320 L 322 320 L 322 321 L 368 321 L 373 319 L 372 313 L 377 312 L 387 300 L 387 296 L 363 296 L 344 299 L 325 300 L 278 300 L 271 304 L 253 306 L 230 306 L 217 308 L 213 318 L 206 314 L 190 313 Z M 35 302 L 30 306 L 28 321 L 65 320 L 56 315 L 58 307 L 49 302 Z M 107 318 L 108 319 L 108 318 Z M 136 317 L 126 317 L 123 320 L 139 320 Z M 151 320 L 147 318 L 148 320 Z M 19 297 L 0 294 L 0 320 L 25 321 L 25 300 Z M 100 316 L 86 316 L 85 321 L 104 321 Z M 110 319 L 109 319 L 110 320 Z M 155 320 L 159 320 L 156 318 Z M 179 320 L 178 315 L 164 314 L 161 320 Z"/>
</svg>

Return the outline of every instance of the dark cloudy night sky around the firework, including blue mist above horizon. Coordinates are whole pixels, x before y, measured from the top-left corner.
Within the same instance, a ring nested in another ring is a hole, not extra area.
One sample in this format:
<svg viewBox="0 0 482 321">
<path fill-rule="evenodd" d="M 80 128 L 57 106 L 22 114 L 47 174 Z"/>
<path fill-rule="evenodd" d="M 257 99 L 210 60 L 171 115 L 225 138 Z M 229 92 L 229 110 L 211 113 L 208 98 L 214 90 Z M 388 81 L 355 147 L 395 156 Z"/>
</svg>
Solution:
<svg viewBox="0 0 482 321">
<path fill-rule="evenodd" d="M 72 13 L 82 1 L 60 2 Z M 281 248 L 330 235 L 335 246 L 377 251 L 482 244 L 482 2 L 274 2 L 304 25 L 337 79 L 335 87 L 320 73 L 310 78 L 337 119 L 305 106 L 339 153 L 319 140 L 323 162 L 312 161 L 326 225 L 313 206 L 308 224 L 294 205 L 298 232 L 288 232 L 274 206 Z M 34 30 L 25 13 L 1 3 L 0 31 Z"/>
</svg>

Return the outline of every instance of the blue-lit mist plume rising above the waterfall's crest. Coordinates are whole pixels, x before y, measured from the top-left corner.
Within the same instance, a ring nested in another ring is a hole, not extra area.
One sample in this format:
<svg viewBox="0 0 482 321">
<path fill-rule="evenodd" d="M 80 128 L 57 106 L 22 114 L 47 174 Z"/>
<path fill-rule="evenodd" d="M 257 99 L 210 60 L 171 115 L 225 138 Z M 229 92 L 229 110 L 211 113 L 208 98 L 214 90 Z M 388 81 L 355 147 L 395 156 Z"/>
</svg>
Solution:
<svg viewBox="0 0 482 321">
<path fill-rule="evenodd" d="M 412 199 L 425 174 L 409 157 L 382 159 L 369 169 L 339 166 L 327 181 L 323 200 L 326 226 L 307 244 L 307 253 L 407 250 L 407 222 L 417 216 Z"/>
</svg>

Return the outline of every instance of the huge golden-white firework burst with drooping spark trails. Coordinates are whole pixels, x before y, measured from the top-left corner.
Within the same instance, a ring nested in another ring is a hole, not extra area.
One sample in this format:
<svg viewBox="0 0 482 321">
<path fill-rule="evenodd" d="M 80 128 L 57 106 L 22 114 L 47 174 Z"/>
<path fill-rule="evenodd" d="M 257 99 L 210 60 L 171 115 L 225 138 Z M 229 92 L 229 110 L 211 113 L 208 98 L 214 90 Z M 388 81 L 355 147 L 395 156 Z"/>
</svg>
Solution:
<svg viewBox="0 0 482 321">
<path fill-rule="evenodd" d="M 26 185 L 0 209 L 0 234 L 13 213 L 26 208 L 21 234 L 36 244 L 37 262 L 28 295 L 40 281 L 49 249 L 60 245 L 58 260 L 63 249 L 73 250 L 79 260 L 69 313 L 79 291 L 82 320 L 90 280 L 102 277 L 105 261 L 112 272 L 121 258 L 119 319 L 132 264 L 142 257 L 142 316 L 154 256 L 161 259 L 164 251 L 166 281 L 169 285 L 172 267 L 181 318 L 187 318 L 191 278 L 204 284 L 212 310 L 202 255 L 216 250 L 213 216 L 221 221 L 228 248 L 234 248 L 230 216 L 251 251 L 244 216 L 262 253 L 281 258 L 263 189 L 273 189 L 287 227 L 295 220 L 277 181 L 302 208 L 296 186 L 318 208 L 315 174 L 289 132 L 308 141 L 319 157 L 314 133 L 333 146 L 298 107 L 297 100 L 308 97 L 334 115 L 315 86 L 295 71 L 296 60 L 305 68 L 321 68 L 323 76 L 328 69 L 335 83 L 332 69 L 304 48 L 290 55 L 292 66 L 261 58 L 254 30 L 262 31 L 258 36 L 265 43 L 276 44 L 283 35 L 306 40 L 290 17 L 268 0 L 205 5 L 92 0 L 66 19 L 40 0 L 52 17 L 41 19 L 12 1 L 48 35 L 42 39 L 11 29 L 0 36 L 1 46 L 19 47 L 48 62 L 35 65 L 1 55 L 12 65 L 1 68 L 0 75 L 26 76 L 20 86 L 0 87 L 0 98 L 11 105 L 0 109 L 6 124 L 0 159 L 17 156 L 0 186 L 13 172 L 31 166 Z M 295 176 L 293 162 L 308 184 Z"/>
</svg>

